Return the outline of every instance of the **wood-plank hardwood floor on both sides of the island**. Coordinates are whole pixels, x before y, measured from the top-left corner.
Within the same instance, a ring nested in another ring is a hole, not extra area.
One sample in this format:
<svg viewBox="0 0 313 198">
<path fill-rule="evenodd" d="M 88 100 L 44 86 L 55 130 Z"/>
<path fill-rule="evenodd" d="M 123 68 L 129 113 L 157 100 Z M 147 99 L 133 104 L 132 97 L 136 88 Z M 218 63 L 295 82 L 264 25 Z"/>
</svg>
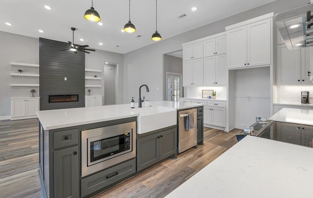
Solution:
<svg viewBox="0 0 313 198">
<path fill-rule="evenodd" d="M 163 161 L 94 198 L 162 198 L 233 146 L 239 132 L 204 128 L 204 145 Z M 37 170 L 38 119 L 0 121 L 0 197 L 42 198 Z"/>
</svg>

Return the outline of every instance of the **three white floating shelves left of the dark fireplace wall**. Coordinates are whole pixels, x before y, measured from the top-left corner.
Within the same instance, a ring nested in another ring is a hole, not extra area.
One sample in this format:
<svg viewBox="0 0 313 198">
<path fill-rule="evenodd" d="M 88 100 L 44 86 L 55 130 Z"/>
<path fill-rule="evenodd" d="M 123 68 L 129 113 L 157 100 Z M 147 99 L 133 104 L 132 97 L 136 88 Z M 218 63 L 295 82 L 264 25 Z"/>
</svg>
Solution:
<svg viewBox="0 0 313 198">
<path fill-rule="evenodd" d="M 22 62 L 11 62 L 11 66 L 22 66 L 24 67 L 37 67 L 39 68 L 39 64 L 31 64 L 31 63 L 22 63 Z M 26 69 L 24 69 L 26 70 Z M 11 76 L 16 77 L 36 77 L 39 80 L 39 71 L 36 71 L 36 73 L 30 72 L 24 72 L 24 73 L 18 73 L 18 72 L 11 72 Z M 38 81 L 37 80 L 37 81 Z M 39 83 L 11 83 L 11 86 L 27 86 L 27 87 L 39 87 Z"/>
</svg>

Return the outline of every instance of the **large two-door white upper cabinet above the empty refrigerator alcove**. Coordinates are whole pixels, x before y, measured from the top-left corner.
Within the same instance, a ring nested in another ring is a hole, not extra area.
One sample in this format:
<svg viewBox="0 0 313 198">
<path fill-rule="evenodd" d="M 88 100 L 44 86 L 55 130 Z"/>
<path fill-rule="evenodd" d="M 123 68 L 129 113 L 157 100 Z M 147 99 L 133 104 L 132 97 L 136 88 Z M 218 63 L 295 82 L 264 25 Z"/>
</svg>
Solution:
<svg viewBox="0 0 313 198">
<path fill-rule="evenodd" d="M 271 64 L 271 24 L 270 18 L 228 28 L 228 69 Z"/>
</svg>

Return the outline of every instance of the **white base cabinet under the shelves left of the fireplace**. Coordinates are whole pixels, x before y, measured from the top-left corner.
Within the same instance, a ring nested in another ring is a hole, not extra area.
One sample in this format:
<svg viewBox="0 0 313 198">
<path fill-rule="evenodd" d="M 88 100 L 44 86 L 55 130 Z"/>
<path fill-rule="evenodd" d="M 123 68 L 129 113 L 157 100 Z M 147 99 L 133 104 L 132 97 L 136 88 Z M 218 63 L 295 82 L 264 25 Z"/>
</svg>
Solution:
<svg viewBox="0 0 313 198">
<path fill-rule="evenodd" d="M 11 99 L 11 119 L 37 118 L 39 111 L 39 98 Z"/>
</svg>

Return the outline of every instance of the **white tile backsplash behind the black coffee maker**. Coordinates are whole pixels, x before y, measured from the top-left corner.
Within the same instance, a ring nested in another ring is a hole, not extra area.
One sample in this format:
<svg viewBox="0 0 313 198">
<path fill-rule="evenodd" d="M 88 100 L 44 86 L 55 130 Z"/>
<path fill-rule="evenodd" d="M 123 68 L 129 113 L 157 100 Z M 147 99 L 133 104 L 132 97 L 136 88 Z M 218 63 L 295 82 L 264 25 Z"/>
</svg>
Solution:
<svg viewBox="0 0 313 198">
<path fill-rule="evenodd" d="M 309 102 L 313 103 L 313 86 L 310 85 L 277 86 L 277 102 L 301 102 L 301 91 L 309 91 Z"/>
</svg>

